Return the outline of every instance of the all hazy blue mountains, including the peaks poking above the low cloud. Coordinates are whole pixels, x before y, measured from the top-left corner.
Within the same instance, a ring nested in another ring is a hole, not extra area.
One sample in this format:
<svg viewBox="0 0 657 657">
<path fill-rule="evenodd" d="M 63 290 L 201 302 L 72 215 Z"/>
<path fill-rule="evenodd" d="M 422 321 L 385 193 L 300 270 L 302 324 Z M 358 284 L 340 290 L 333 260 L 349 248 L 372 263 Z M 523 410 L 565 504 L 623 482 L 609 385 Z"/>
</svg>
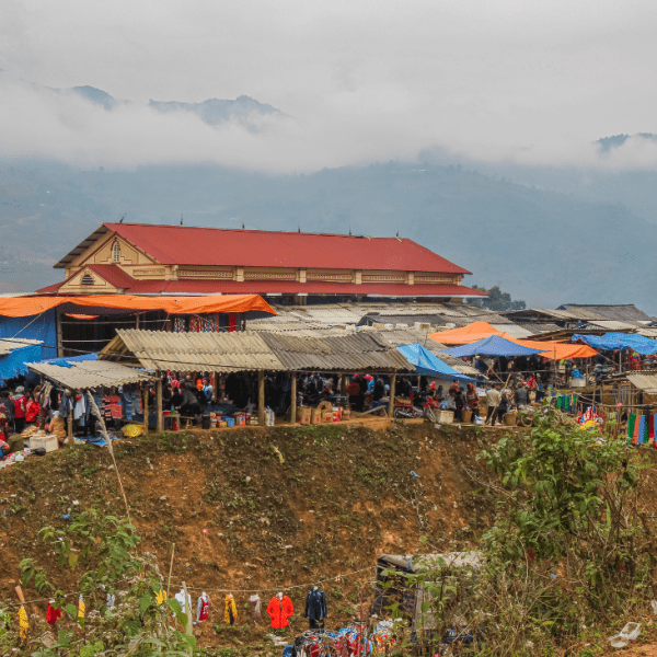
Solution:
<svg viewBox="0 0 657 657">
<path fill-rule="evenodd" d="M 92 87 L 50 91 L 74 94 L 110 117 L 135 105 Z M 139 112 L 152 113 L 146 115 L 152 122 L 172 114 L 200 118 L 206 130 L 245 129 L 265 142 L 270 124 L 261 120 L 297 120 L 244 95 L 151 100 Z M 220 165 L 204 157 L 129 169 L 99 157 L 73 165 L 4 151 L 0 291 L 59 280 L 51 264 L 103 221 L 126 215 L 131 222 L 178 223 L 183 214 L 188 226 L 399 231 L 471 269 L 468 285 L 499 285 L 531 306 L 634 302 L 654 314 L 657 174 L 644 165 L 610 169 L 604 159 L 644 142 L 652 147 L 655 139 L 602 138 L 596 146 L 600 166 L 476 161 L 431 148 L 415 158 L 307 173 L 249 171 L 244 162 Z"/>
</svg>

